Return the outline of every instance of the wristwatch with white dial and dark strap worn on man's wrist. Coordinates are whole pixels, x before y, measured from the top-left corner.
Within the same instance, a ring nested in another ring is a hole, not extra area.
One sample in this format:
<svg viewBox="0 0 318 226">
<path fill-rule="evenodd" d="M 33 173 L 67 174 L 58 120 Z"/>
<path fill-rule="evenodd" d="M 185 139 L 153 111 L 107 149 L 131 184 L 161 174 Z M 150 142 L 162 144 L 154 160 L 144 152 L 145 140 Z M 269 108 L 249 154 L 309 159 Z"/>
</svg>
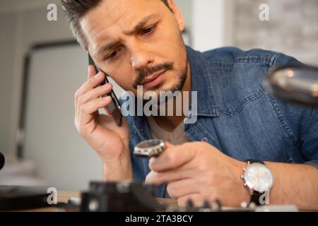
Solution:
<svg viewBox="0 0 318 226">
<path fill-rule="evenodd" d="M 246 160 L 247 166 L 243 168 L 241 179 L 244 181 L 244 186 L 249 189 L 251 194 L 250 203 L 256 205 L 268 204 L 269 191 L 271 190 L 274 177 L 271 169 L 266 167 L 264 162 L 258 160 Z M 266 202 L 261 198 L 263 195 L 267 196 Z"/>
</svg>

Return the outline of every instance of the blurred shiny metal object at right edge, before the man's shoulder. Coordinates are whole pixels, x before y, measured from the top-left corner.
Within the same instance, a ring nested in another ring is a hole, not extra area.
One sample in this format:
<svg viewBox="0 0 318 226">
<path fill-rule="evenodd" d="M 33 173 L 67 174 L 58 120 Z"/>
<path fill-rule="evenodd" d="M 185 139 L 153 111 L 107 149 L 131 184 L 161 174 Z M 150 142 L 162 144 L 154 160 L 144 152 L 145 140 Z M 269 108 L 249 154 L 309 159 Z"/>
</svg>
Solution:
<svg viewBox="0 0 318 226">
<path fill-rule="evenodd" d="M 283 66 L 273 69 L 264 84 L 274 96 L 288 102 L 318 107 L 318 68 Z"/>
</svg>

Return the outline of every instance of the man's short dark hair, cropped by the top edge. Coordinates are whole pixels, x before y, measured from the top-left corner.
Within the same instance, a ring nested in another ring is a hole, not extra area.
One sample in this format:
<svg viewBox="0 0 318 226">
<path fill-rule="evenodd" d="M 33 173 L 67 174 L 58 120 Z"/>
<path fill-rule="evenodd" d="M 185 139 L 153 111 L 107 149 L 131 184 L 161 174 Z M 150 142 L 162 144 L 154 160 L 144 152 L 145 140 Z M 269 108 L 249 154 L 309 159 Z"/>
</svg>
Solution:
<svg viewBox="0 0 318 226">
<path fill-rule="evenodd" d="M 170 9 L 167 0 L 161 0 Z M 79 20 L 91 9 L 100 5 L 102 0 L 61 0 L 61 4 L 69 20 L 73 35 L 81 47 L 88 49 L 88 42 L 83 35 Z M 171 9 L 170 9 L 171 10 Z"/>
</svg>

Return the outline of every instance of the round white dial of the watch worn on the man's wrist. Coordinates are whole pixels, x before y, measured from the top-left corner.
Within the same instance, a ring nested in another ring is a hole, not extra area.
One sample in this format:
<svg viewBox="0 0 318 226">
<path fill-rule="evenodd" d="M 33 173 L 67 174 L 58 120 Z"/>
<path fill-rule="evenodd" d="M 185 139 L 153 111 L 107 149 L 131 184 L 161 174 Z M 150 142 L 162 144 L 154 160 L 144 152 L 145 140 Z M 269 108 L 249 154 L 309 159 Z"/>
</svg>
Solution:
<svg viewBox="0 0 318 226">
<path fill-rule="evenodd" d="M 249 189 L 264 192 L 273 186 L 273 174 L 271 170 L 261 163 L 250 164 L 244 173 L 245 183 Z"/>
</svg>

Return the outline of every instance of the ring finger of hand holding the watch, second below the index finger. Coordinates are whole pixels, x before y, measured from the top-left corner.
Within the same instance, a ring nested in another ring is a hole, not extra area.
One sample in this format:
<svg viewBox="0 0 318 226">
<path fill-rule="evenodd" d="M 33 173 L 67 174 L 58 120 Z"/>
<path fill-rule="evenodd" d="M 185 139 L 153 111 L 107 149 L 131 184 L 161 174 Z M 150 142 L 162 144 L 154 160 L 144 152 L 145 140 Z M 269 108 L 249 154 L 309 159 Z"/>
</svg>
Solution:
<svg viewBox="0 0 318 226">
<path fill-rule="evenodd" d="M 171 198 L 177 199 L 189 194 L 199 193 L 200 186 L 194 179 L 181 179 L 167 184 L 167 193 Z"/>
</svg>

